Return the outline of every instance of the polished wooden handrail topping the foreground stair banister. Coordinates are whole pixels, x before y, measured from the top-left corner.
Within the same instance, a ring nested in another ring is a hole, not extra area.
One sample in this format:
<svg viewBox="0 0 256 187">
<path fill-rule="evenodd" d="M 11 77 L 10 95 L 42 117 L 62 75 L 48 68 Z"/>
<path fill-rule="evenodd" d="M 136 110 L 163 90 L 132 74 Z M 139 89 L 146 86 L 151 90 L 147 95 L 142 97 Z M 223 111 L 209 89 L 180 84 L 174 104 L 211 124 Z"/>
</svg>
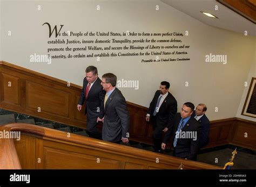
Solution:
<svg viewBox="0 0 256 187">
<path fill-rule="evenodd" d="M 137 149 L 133 147 L 127 147 L 123 145 L 117 145 L 115 143 L 96 140 L 92 138 L 87 138 L 85 136 L 80 136 L 76 134 L 70 134 L 70 138 L 67 136 L 66 132 L 52 130 L 50 128 L 30 125 L 30 124 L 6 124 L 0 127 L 0 131 L 16 131 L 25 133 L 26 135 L 36 136 L 41 139 L 51 139 L 55 141 L 64 141 L 70 144 L 75 143 L 80 146 L 89 146 L 95 149 L 102 150 L 104 152 L 111 152 L 117 155 L 129 155 L 134 158 L 143 158 L 143 160 L 152 161 L 156 157 L 161 160 L 163 164 L 177 164 L 183 163 L 188 169 L 221 169 L 221 167 L 213 166 L 211 164 L 205 164 L 200 162 L 194 162 L 190 160 L 179 159 L 173 156 L 167 156 L 163 154 L 157 154 L 149 152 L 142 149 Z M 14 146 L 14 140 L 12 139 L 0 139 L 0 167 L 1 169 L 21 169 L 21 164 L 19 164 L 17 152 Z"/>
</svg>

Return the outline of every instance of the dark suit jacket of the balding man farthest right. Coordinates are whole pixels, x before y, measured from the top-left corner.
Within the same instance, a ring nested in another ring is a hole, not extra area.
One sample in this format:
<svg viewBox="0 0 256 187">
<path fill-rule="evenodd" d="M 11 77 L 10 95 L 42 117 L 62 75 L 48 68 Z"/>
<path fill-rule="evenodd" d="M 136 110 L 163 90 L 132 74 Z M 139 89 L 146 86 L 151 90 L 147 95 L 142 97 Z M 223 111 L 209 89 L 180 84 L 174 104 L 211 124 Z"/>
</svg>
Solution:
<svg viewBox="0 0 256 187">
<path fill-rule="evenodd" d="M 195 111 L 193 112 L 191 117 L 195 117 L 196 113 Z M 210 133 L 210 121 L 208 120 L 208 118 L 206 117 L 206 115 L 204 114 L 204 116 L 202 116 L 198 122 L 202 125 L 202 136 L 201 136 L 201 141 L 200 141 L 200 148 L 205 147 L 208 142 L 209 142 L 209 133 Z"/>
</svg>

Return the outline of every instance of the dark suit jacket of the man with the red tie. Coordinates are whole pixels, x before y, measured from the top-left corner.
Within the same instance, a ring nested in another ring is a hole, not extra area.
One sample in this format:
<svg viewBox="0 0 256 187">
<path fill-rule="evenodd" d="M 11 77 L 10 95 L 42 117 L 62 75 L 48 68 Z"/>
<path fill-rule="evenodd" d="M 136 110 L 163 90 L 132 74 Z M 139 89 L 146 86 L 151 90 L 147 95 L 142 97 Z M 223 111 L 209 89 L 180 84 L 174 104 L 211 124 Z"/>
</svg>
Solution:
<svg viewBox="0 0 256 187">
<path fill-rule="evenodd" d="M 85 101 L 85 114 L 87 113 L 87 118 L 91 120 L 98 117 L 103 118 L 104 116 L 104 97 L 106 92 L 103 90 L 103 87 L 100 84 L 101 82 L 102 80 L 98 77 L 89 90 L 87 98 L 85 98 L 88 81 L 86 80 L 86 77 L 84 78 L 83 89 L 78 104 L 83 105 Z"/>
</svg>

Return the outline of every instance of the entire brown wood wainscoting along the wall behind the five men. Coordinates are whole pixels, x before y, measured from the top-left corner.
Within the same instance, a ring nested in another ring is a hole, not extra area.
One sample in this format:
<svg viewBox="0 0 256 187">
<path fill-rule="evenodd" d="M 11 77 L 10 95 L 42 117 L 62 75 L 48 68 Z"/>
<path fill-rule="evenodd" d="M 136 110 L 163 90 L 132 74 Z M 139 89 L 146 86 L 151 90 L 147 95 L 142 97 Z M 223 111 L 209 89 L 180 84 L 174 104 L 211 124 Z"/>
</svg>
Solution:
<svg viewBox="0 0 256 187">
<path fill-rule="evenodd" d="M 82 87 L 68 85 L 57 78 L 0 61 L 0 108 L 86 128 L 85 106 L 81 112 L 77 110 Z M 152 145 L 153 127 L 145 121 L 147 108 L 130 102 L 127 107 L 130 139 Z M 256 150 L 256 123 L 239 118 L 211 121 L 207 147 L 228 143 Z"/>
</svg>

